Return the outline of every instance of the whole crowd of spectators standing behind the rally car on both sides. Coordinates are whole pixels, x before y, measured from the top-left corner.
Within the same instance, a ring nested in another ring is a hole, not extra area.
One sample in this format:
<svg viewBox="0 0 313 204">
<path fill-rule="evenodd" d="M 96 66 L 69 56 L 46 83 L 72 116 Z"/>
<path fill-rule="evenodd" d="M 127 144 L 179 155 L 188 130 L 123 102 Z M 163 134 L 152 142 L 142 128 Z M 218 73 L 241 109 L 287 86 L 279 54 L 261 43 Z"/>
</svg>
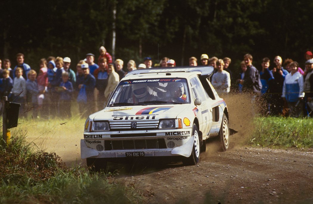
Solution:
<svg viewBox="0 0 313 204">
<path fill-rule="evenodd" d="M 88 53 L 85 59 L 70 68 L 69 57 L 48 57 L 39 62 L 38 73 L 24 62 L 22 53 L 16 55 L 17 65 L 11 67 L 11 61 L 0 60 L 0 94 L 9 101 L 21 104 L 20 113 L 32 111 L 33 118 L 71 117 L 71 105 L 77 102 L 81 116 L 86 117 L 103 109 L 107 99 L 118 82 L 127 72 L 151 67 L 175 67 L 173 59 L 164 57 L 153 65 L 151 57 L 145 57 L 143 63 L 136 66 L 134 60 L 114 62 L 105 47 L 99 48 L 99 57 Z M 3 63 L 3 67 L 2 67 Z M 298 62 L 276 56 L 273 66 L 265 57 L 256 68 L 253 57 L 246 54 L 240 63 L 240 73 L 230 68 L 231 59 L 208 57 L 202 54 L 200 62 L 196 57 L 189 58 L 189 66 L 212 66 L 210 81 L 215 90 L 222 95 L 229 92 L 251 93 L 262 104 L 264 115 L 285 115 L 310 117 L 313 115 L 313 55 L 305 53 L 305 67 Z M 312 75 L 312 76 L 311 76 Z M 38 115 L 39 113 L 39 115 Z"/>
</svg>

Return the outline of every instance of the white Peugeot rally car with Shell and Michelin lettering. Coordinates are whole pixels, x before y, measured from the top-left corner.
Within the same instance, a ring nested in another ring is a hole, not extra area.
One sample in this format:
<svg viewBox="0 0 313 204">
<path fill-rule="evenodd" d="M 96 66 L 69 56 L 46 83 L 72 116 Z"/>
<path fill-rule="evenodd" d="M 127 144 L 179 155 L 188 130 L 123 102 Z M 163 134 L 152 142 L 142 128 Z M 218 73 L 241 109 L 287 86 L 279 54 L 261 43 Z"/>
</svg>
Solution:
<svg viewBox="0 0 313 204">
<path fill-rule="evenodd" d="M 81 158 L 96 169 L 118 157 L 182 156 L 193 165 L 213 136 L 226 151 L 228 108 L 208 81 L 212 73 L 213 67 L 129 72 L 107 106 L 86 120 Z"/>
</svg>

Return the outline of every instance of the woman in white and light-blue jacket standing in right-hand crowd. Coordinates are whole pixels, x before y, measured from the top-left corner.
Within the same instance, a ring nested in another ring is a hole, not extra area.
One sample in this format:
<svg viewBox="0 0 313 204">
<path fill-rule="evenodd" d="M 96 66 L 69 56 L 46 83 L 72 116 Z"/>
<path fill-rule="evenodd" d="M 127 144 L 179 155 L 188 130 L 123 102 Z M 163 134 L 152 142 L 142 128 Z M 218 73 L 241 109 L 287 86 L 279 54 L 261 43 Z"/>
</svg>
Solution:
<svg viewBox="0 0 313 204">
<path fill-rule="evenodd" d="M 282 98 L 288 104 L 289 114 L 292 117 L 299 117 L 302 111 L 302 106 L 300 102 L 296 107 L 298 101 L 302 101 L 304 97 L 303 92 L 303 77 L 297 71 L 299 67 L 298 62 L 291 62 L 290 73 L 286 75 Z"/>
</svg>

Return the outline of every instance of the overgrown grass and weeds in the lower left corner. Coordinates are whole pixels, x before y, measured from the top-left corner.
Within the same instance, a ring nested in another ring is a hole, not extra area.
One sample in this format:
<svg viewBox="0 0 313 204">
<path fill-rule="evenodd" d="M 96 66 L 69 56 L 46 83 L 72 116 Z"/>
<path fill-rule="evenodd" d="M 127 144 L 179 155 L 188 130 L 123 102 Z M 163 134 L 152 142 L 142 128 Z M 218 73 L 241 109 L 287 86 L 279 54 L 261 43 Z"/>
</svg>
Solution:
<svg viewBox="0 0 313 204">
<path fill-rule="evenodd" d="M 0 141 L 0 203 L 141 203 L 133 185 L 112 174 L 66 167 L 55 153 L 38 150 L 25 134 Z"/>
</svg>

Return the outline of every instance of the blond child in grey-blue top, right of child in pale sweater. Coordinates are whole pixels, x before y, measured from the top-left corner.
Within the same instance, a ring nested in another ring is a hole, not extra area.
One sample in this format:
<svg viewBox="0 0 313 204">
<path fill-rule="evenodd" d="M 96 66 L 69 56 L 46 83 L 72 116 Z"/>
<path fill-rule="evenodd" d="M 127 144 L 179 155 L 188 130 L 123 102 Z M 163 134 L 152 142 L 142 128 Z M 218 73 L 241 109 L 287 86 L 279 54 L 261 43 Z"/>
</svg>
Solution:
<svg viewBox="0 0 313 204">
<path fill-rule="evenodd" d="M 38 84 L 36 82 L 37 73 L 35 70 L 29 70 L 27 74 L 26 90 L 27 90 L 27 102 L 30 107 L 33 107 L 32 116 L 37 118 L 38 115 Z"/>
</svg>

